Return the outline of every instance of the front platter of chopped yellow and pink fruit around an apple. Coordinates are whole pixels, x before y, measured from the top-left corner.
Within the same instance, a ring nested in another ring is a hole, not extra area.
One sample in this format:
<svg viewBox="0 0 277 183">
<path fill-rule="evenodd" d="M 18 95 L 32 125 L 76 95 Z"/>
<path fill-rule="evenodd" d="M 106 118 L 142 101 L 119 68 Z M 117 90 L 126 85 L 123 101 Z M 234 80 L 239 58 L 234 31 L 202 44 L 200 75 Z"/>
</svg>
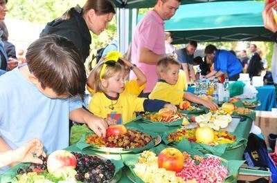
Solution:
<svg viewBox="0 0 277 183">
<path fill-rule="evenodd" d="M 145 154 L 147 153 L 147 154 Z M 207 155 L 200 157 L 191 156 L 184 152 L 184 168 L 175 173 L 174 171 L 166 171 L 157 165 L 157 155 L 149 155 L 148 151 L 143 152 L 138 162 L 127 162 L 129 168 L 125 169 L 125 173 L 132 182 L 151 182 L 156 179 L 157 182 L 201 182 L 206 177 L 213 176 L 218 182 L 235 182 L 233 170 L 230 170 L 229 162 L 215 155 Z M 204 173 L 204 172 L 205 173 Z M 213 173 L 206 173 L 210 171 Z"/>
</svg>

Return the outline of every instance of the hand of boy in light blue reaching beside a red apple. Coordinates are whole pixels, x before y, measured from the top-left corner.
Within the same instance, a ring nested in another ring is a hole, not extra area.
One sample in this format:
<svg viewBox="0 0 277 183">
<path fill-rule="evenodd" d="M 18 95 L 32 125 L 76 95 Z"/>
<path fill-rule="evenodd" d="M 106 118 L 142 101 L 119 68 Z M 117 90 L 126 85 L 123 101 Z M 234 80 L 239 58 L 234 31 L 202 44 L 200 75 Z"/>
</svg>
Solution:
<svg viewBox="0 0 277 183">
<path fill-rule="evenodd" d="M 86 122 L 87 126 L 91 129 L 91 131 L 96 133 L 98 137 L 106 136 L 106 130 L 108 128 L 108 122 L 106 119 L 91 115 L 91 117 L 89 117 L 89 120 Z"/>
</svg>

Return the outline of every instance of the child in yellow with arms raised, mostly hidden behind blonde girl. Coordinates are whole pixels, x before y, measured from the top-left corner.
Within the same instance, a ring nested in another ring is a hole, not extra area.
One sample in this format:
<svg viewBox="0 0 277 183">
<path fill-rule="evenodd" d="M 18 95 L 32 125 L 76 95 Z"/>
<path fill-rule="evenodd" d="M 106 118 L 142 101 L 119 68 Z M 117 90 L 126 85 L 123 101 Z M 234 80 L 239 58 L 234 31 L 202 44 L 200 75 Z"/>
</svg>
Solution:
<svg viewBox="0 0 277 183">
<path fill-rule="evenodd" d="M 117 51 L 109 52 L 105 56 L 104 61 L 117 59 L 117 58 L 113 58 L 113 55 L 118 55 L 118 63 L 125 66 L 125 73 L 124 73 L 125 78 L 129 75 L 130 70 L 132 70 L 134 72 L 134 74 L 136 75 L 135 79 L 125 81 L 125 90 L 123 91 L 123 93 L 128 92 L 128 93 L 134 94 L 136 96 L 139 96 L 141 91 L 145 88 L 145 84 L 146 84 L 145 75 L 143 74 L 143 72 L 141 72 L 141 70 L 139 68 L 134 66 L 134 64 L 132 64 L 127 59 L 124 59 L 123 55 L 120 52 L 117 52 Z M 87 79 L 87 90 L 91 94 L 95 94 L 95 91 L 93 90 L 93 88 L 94 88 L 93 75 L 94 75 L 94 71 L 92 70 Z"/>
</svg>

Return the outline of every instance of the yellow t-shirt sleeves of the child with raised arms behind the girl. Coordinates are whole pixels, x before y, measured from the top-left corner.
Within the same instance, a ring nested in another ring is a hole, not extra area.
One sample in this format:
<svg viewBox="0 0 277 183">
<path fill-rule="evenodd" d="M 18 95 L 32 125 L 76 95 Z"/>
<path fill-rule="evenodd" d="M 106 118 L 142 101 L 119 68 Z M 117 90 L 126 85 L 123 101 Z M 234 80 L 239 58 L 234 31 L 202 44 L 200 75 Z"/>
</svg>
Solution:
<svg viewBox="0 0 277 183">
<path fill-rule="evenodd" d="M 145 84 L 143 84 L 142 86 L 139 86 L 138 81 L 135 78 L 125 82 L 125 90 L 123 91 L 123 93 L 127 92 L 133 95 L 139 96 L 139 94 L 141 93 L 142 90 L 144 90 L 144 88 L 145 88 Z M 87 86 L 87 90 L 89 91 L 89 93 L 95 94 L 95 91 L 91 89 L 89 86 Z"/>
</svg>

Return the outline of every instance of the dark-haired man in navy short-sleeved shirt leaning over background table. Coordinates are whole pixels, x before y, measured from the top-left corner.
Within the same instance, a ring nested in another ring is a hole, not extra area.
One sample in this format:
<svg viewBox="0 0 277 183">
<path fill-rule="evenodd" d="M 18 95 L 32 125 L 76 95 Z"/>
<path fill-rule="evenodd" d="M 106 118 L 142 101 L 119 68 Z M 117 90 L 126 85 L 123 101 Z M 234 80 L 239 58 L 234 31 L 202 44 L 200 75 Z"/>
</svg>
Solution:
<svg viewBox="0 0 277 183">
<path fill-rule="evenodd" d="M 197 49 L 197 42 L 190 41 L 186 48 L 181 48 L 177 50 L 178 60 L 181 63 L 181 66 L 186 73 L 186 78 L 188 79 L 188 83 L 190 81 L 195 81 L 195 70 L 193 69 L 193 58 L 195 50 Z"/>
</svg>

